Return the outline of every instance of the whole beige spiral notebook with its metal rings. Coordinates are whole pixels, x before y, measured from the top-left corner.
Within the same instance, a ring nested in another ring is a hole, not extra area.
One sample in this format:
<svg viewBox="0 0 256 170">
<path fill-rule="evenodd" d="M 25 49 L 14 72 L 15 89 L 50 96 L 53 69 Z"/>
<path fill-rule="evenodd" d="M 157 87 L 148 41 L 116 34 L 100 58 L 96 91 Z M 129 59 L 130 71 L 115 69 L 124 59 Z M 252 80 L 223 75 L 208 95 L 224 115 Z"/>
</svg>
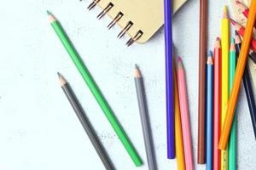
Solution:
<svg viewBox="0 0 256 170">
<path fill-rule="evenodd" d="M 174 0 L 173 13 L 186 1 Z M 102 13 L 97 18 L 101 19 L 108 14 L 112 18 L 108 28 L 118 24 L 122 28 L 118 37 L 127 33 L 131 39 L 126 45 L 130 46 L 133 42 L 147 42 L 163 26 L 163 3 L 163 0 L 94 0 L 88 8 L 94 8 L 96 5 L 101 7 Z"/>
</svg>

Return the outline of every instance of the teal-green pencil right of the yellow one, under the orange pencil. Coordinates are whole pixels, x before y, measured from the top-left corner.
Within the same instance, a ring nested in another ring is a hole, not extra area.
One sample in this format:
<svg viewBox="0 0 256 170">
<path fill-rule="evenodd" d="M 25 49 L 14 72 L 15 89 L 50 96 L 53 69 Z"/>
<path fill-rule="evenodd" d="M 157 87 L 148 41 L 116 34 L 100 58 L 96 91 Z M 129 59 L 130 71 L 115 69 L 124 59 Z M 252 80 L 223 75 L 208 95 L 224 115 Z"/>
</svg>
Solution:
<svg viewBox="0 0 256 170">
<path fill-rule="evenodd" d="M 229 93 L 231 92 L 231 88 L 233 85 L 233 80 L 236 71 L 236 47 L 235 47 L 235 39 L 232 39 L 230 44 L 230 72 L 229 72 Z M 230 143 L 229 143 L 229 170 L 236 169 L 236 143 L 237 143 L 237 117 L 234 116 L 234 121 L 232 124 L 232 129 L 230 133 Z"/>
</svg>

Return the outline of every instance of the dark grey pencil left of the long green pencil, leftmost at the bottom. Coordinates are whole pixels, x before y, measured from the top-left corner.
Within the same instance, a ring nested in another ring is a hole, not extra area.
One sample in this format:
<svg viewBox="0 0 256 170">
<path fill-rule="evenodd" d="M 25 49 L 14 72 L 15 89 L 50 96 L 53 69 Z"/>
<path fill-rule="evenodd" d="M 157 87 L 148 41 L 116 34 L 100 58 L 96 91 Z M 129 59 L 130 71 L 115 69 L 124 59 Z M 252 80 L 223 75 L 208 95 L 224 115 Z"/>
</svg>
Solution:
<svg viewBox="0 0 256 170">
<path fill-rule="evenodd" d="M 103 149 L 101 142 L 96 137 L 96 133 L 92 128 L 92 126 L 90 125 L 88 118 L 85 116 L 84 110 L 79 104 L 79 100 L 76 98 L 75 94 L 73 93 L 73 90 L 69 87 L 64 77 L 62 77 L 60 73 L 58 73 L 58 76 L 59 76 L 59 82 L 63 92 L 66 94 L 68 101 L 73 107 L 73 110 L 75 111 L 76 115 L 79 117 L 79 121 L 84 127 L 84 131 L 87 133 L 91 144 L 94 146 L 98 156 L 101 158 L 104 167 L 107 170 L 113 170 L 114 169 L 113 164 L 110 161 L 106 151 Z"/>
</svg>

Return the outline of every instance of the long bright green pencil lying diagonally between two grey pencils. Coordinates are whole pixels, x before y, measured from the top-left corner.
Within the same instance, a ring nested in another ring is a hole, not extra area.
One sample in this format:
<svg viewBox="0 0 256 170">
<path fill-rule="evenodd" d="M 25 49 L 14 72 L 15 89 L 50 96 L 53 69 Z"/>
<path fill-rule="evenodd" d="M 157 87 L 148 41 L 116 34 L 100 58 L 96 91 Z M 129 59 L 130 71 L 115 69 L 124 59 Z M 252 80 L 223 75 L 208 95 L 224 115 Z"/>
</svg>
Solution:
<svg viewBox="0 0 256 170">
<path fill-rule="evenodd" d="M 96 98 L 96 101 L 101 106 L 102 111 L 105 113 L 105 116 L 107 116 L 108 121 L 113 127 L 113 130 L 117 135 L 119 136 L 119 139 L 121 140 L 122 144 L 124 144 L 125 149 L 127 150 L 128 154 L 131 156 L 132 161 L 135 163 L 135 165 L 141 166 L 143 164 L 141 158 L 138 156 L 137 151 L 134 149 L 133 145 L 131 144 L 131 141 L 128 139 L 128 136 L 126 135 L 124 129 L 119 124 L 117 118 L 114 116 L 113 111 L 110 109 L 107 100 L 103 97 L 100 89 L 97 87 L 96 82 L 93 80 L 93 78 L 90 75 L 90 72 L 84 65 L 82 59 L 79 57 L 78 52 L 73 47 L 72 42 L 67 37 L 67 34 L 61 27 L 61 24 L 58 22 L 58 20 L 55 19 L 54 15 L 49 13 L 47 11 L 47 14 L 49 16 L 49 22 L 51 26 L 54 28 L 55 33 L 60 38 L 63 46 L 66 48 L 67 53 L 70 55 L 71 59 L 73 60 L 74 65 L 77 66 L 80 74 L 84 78 L 84 81 L 86 82 L 87 86 L 90 88 L 90 92 L 94 95 Z"/>
</svg>

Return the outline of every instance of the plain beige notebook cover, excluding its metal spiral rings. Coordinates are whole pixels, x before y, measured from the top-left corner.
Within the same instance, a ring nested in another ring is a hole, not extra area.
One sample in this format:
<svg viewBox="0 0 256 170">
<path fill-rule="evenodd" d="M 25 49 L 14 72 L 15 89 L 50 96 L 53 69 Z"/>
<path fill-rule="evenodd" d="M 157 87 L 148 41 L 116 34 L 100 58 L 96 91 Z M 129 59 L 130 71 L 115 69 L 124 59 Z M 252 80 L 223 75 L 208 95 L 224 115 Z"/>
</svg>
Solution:
<svg viewBox="0 0 256 170">
<path fill-rule="evenodd" d="M 173 13 L 186 1 L 174 0 Z M 125 28 L 129 21 L 133 23 L 127 31 L 130 37 L 134 37 L 139 30 L 143 31 L 143 36 L 137 40 L 139 43 L 147 42 L 164 24 L 164 0 L 101 0 L 97 4 L 103 9 L 109 3 L 113 3 L 113 8 L 108 11 L 112 19 L 119 12 L 124 14 L 117 23 L 121 28 Z"/>
</svg>

